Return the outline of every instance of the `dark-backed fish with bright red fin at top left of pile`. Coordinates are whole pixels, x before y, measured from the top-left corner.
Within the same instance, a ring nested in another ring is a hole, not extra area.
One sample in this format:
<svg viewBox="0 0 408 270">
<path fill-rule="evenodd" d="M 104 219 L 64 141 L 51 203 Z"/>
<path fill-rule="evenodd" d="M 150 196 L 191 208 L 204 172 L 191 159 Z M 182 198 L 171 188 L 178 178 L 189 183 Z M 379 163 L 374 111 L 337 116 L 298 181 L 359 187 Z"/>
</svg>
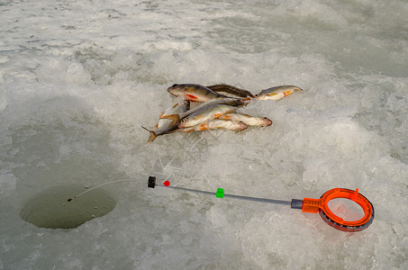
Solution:
<svg viewBox="0 0 408 270">
<path fill-rule="evenodd" d="M 229 98 L 224 94 L 218 94 L 203 85 L 183 84 L 168 87 L 168 93 L 174 96 L 182 96 L 188 101 L 204 103 L 212 99 Z"/>
</svg>

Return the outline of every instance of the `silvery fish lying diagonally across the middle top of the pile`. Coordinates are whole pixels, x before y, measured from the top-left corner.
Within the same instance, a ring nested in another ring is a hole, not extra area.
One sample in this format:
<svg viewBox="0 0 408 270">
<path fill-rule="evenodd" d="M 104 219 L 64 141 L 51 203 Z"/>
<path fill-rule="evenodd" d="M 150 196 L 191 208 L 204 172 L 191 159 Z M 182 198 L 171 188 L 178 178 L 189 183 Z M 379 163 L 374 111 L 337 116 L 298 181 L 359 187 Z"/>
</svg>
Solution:
<svg viewBox="0 0 408 270">
<path fill-rule="evenodd" d="M 237 109 L 238 107 L 225 104 L 210 105 L 183 118 L 178 124 L 178 128 L 188 128 L 200 123 L 211 121 L 222 116 L 222 114 L 236 112 Z"/>
</svg>

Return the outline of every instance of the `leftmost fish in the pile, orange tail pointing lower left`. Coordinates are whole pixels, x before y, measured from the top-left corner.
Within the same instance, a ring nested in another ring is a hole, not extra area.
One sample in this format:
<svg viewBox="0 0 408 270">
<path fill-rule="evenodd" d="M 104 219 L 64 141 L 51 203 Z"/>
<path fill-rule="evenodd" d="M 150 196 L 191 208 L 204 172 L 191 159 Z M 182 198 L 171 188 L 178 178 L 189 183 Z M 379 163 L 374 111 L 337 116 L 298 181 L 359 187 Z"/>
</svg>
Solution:
<svg viewBox="0 0 408 270">
<path fill-rule="evenodd" d="M 167 134 L 168 131 L 177 129 L 178 122 L 177 121 L 175 122 L 172 119 L 166 118 L 167 115 L 180 113 L 180 112 L 186 112 L 189 108 L 190 108 L 190 102 L 187 100 L 176 103 L 173 106 L 169 107 L 166 111 L 160 114 L 159 122 L 156 124 L 155 130 L 148 130 L 142 126 L 143 129 L 148 130 L 150 132 L 148 143 L 152 142 L 153 140 L 158 138 L 160 135 Z"/>
</svg>

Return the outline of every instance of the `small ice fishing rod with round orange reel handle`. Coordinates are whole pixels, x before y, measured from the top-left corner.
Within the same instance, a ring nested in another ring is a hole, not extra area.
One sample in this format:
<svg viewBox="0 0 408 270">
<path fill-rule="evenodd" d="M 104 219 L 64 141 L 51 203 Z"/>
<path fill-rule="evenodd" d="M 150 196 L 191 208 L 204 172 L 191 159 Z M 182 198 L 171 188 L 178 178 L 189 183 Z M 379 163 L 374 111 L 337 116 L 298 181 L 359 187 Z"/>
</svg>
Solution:
<svg viewBox="0 0 408 270">
<path fill-rule="evenodd" d="M 222 188 L 218 188 L 216 193 L 207 192 L 202 190 L 195 190 L 180 186 L 170 186 L 170 182 L 165 181 L 163 184 L 156 184 L 156 177 L 150 176 L 148 181 L 148 187 L 155 188 L 156 186 L 163 186 L 172 188 L 175 190 L 181 190 L 193 193 L 204 193 L 208 195 L 215 195 L 217 198 L 232 198 L 253 202 L 267 202 L 290 205 L 292 209 L 302 209 L 304 212 L 318 212 L 327 224 L 329 224 L 334 229 L 340 229 L 343 231 L 355 232 L 363 229 L 367 229 L 368 226 L 374 220 L 374 207 L 367 198 L 358 193 L 358 188 L 353 191 L 347 188 L 336 187 L 322 194 L 320 199 L 304 198 L 304 200 L 292 199 L 292 201 L 282 201 L 282 200 L 272 200 L 266 198 L 258 197 L 248 197 L 241 195 L 226 194 Z M 328 203 L 333 199 L 349 199 L 350 201 L 357 202 L 358 205 L 364 211 L 364 217 L 359 220 L 343 220 L 336 214 L 334 214 Z"/>
</svg>

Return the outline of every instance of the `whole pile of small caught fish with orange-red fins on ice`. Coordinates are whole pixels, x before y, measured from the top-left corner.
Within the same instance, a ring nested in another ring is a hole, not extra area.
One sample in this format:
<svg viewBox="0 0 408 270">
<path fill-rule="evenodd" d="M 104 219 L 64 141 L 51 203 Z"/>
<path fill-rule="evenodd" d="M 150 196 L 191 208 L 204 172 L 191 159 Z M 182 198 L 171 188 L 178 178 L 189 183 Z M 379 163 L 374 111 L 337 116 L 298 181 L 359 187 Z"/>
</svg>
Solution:
<svg viewBox="0 0 408 270">
<path fill-rule="evenodd" d="M 237 112 L 252 99 L 278 100 L 295 91 L 294 85 L 280 85 L 262 90 L 259 94 L 232 85 L 172 85 L 168 93 L 179 100 L 159 116 L 159 122 L 150 132 L 148 142 L 160 135 L 201 130 L 245 130 L 248 126 L 266 127 L 272 124 L 267 117 L 256 117 Z M 194 104 L 196 104 L 194 106 Z"/>
</svg>

